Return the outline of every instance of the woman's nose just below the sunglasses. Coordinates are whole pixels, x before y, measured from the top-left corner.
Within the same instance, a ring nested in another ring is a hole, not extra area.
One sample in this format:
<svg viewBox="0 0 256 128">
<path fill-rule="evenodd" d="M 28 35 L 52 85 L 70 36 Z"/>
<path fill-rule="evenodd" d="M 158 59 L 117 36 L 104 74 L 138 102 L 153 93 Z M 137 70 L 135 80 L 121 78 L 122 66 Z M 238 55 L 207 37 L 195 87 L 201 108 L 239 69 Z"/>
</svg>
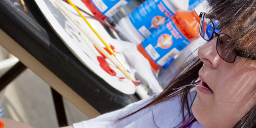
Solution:
<svg viewBox="0 0 256 128">
<path fill-rule="evenodd" d="M 203 61 L 204 65 L 217 69 L 220 65 L 221 57 L 216 50 L 217 38 L 212 39 L 198 49 L 198 57 Z"/>
</svg>

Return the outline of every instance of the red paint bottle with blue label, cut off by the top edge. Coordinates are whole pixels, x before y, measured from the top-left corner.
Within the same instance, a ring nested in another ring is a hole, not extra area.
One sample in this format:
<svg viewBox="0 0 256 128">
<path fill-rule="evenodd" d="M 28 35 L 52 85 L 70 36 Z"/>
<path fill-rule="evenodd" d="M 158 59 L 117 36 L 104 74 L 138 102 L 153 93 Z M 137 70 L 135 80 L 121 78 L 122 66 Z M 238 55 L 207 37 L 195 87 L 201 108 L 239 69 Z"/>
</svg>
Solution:
<svg viewBox="0 0 256 128">
<path fill-rule="evenodd" d="M 99 19 L 106 19 L 116 14 L 131 0 L 81 0 L 87 8 Z"/>
</svg>

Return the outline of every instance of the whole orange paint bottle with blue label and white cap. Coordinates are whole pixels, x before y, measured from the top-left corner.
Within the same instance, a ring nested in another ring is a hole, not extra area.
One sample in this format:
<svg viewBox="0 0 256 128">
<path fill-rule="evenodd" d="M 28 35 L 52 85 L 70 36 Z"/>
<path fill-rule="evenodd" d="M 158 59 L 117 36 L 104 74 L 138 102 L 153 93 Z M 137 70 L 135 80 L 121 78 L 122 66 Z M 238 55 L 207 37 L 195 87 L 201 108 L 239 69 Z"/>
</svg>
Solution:
<svg viewBox="0 0 256 128">
<path fill-rule="evenodd" d="M 191 41 L 200 37 L 198 15 L 203 11 L 203 3 L 193 11 L 178 10 L 137 46 L 138 51 L 150 61 L 155 73 L 166 62 L 175 59 Z"/>
</svg>

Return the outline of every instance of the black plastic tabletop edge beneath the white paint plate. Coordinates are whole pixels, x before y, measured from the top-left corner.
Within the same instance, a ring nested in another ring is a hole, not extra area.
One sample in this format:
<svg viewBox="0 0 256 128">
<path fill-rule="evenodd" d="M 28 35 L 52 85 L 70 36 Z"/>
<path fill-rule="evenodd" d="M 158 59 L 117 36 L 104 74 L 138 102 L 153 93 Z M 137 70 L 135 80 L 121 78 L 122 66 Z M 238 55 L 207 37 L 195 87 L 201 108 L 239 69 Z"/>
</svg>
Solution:
<svg viewBox="0 0 256 128">
<path fill-rule="evenodd" d="M 138 101 L 84 66 L 55 34 L 34 1 L 25 1 L 28 13 L 13 2 L 19 1 L 0 1 L 0 28 L 97 111 L 103 114 Z"/>
</svg>

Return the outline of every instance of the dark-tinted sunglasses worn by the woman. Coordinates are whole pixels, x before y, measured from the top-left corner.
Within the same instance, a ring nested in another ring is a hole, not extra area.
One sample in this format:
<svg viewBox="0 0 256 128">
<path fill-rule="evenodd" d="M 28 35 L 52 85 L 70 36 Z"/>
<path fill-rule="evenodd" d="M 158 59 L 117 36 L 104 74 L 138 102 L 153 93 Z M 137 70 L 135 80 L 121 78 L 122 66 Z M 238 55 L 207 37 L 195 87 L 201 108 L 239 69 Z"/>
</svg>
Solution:
<svg viewBox="0 0 256 128">
<path fill-rule="evenodd" d="M 242 52 L 234 51 L 231 49 L 230 41 L 231 37 L 225 33 L 217 33 L 215 25 L 217 23 L 212 22 L 207 13 L 201 12 L 199 23 L 199 33 L 207 41 L 214 37 L 214 34 L 218 37 L 216 41 L 216 50 L 219 56 L 226 62 L 233 63 L 237 56 L 256 60 L 255 56 L 245 55 Z"/>
</svg>

